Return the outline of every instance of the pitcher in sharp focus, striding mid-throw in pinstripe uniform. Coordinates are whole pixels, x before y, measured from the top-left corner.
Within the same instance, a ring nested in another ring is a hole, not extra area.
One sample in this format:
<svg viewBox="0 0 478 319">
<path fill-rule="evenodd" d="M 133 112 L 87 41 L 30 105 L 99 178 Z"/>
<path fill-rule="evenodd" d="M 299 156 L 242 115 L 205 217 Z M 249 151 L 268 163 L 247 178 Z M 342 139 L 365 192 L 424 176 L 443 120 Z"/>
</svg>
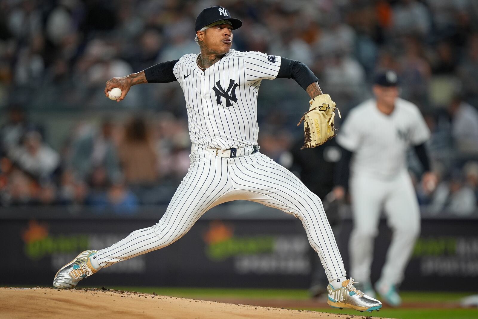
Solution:
<svg viewBox="0 0 478 319">
<path fill-rule="evenodd" d="M 220 6 L 196 19 L 200 54 L 183 55 L 127 77 L 112 78 L 124 99 L 141 83 L 178 81 L 184 91 L 191 137 L 191 166 L 163 218 L 152 227 L 100 251 L 80 253 L 54 277 L 58 288 L 123 260 L 163 248 L 180 239 L 208 209 L 245 199 L 281 209 L 302 220 L 309 243 L 326 270 L 328 303 L 335 308 L 372 311 L 380 301 L 347 279 L 342 258 L 320 199 L 291 172 L 259 152 L 257 94 L 262 79 L 293 78 L 311 99 L 322 94 L 317 77 L 303 63 L 260 52 L 231 50 L 232 30 L 242 22 Z"/>
</svg>

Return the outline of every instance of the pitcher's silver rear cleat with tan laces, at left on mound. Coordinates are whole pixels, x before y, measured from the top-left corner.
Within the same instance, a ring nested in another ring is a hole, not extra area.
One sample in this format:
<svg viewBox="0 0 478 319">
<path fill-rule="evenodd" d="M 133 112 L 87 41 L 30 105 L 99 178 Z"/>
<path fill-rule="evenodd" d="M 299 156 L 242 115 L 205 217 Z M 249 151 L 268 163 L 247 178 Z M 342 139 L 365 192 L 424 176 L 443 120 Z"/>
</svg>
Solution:
<svg viewBox="0 0 478 319">
<path fill-rule="evenodd" d="M 53 278 L 53 286 L 56 288 L 72 288 L 78 281 L 98 272 L 91 265 L 90 257 L 98 253 L 97 250 L 86 250 L 80 253 L 70 263 L 65 264 L 58 270 Z"/>
</svg>

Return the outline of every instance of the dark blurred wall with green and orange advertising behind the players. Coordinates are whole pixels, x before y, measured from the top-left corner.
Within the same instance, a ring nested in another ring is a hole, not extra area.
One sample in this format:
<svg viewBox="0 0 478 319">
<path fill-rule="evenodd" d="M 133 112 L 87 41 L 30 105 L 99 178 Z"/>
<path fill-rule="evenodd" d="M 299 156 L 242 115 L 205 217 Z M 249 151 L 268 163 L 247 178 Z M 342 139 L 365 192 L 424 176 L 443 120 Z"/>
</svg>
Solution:
<svg viewBox="0 0 478 319">
<path fill-rule="evenodd" d="M 0 284 L 51 285 L 58 268 L 79 252 L 108 247 L 155 222 L 2 219 L 0 236 L 8 257 L 0 263 Z M 476 279 L 477 226 L 478 220 L 423 220 L 402 288 L 463 289 Z M 350 229 L 351 221 L 345 220 L 337 238 L 347 268 Z M 390 238 L 391 231 L 381 223 L 372 280 L 380 275 Z M 174 244 L 105 268 L 87 284 L 307 288 L 318 264 L 313 258 L 299 220 L 201 219 Z"/>
</svg>

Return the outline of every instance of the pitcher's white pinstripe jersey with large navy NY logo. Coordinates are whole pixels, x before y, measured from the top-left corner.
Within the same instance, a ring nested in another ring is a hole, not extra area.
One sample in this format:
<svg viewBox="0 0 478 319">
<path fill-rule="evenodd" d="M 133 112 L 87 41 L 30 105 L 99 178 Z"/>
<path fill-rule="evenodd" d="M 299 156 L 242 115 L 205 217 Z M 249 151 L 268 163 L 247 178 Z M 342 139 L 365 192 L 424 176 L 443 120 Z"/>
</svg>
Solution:
<svg viewBox="0 0 478 319">
<path fill-rule="evenodd" d="M 173 70 L 184 92 L 191 142 L 223 150 L 256 144 L 261 80 L 277 76 L 281 57 L 230 50 L 204 72 L 196 58 L 183 55 Z"/>
</svg>

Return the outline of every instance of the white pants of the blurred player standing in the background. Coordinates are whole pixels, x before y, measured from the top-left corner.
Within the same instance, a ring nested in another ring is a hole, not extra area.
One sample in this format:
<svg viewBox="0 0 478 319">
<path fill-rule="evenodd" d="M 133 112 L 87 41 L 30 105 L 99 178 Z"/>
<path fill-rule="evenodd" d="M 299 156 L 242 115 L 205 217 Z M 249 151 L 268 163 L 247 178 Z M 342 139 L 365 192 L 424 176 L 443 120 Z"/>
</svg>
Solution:
<svg viewBox="0 0 478 319">
<path fill-rule="evenodd" d="M 380 281 L 398 285 L 420 233 L 420 208 L 407 170 L 395 178 L 380 180 L 355 174 L 350 179 L 354 228 L 350 233 L 350 269 L 355 278 L 370 282 L 374 239 L 382 208 L 393 230 Z"/>
</svg>

